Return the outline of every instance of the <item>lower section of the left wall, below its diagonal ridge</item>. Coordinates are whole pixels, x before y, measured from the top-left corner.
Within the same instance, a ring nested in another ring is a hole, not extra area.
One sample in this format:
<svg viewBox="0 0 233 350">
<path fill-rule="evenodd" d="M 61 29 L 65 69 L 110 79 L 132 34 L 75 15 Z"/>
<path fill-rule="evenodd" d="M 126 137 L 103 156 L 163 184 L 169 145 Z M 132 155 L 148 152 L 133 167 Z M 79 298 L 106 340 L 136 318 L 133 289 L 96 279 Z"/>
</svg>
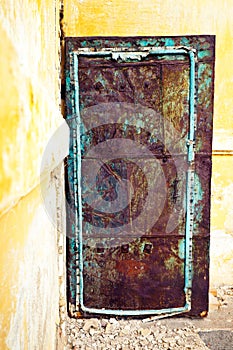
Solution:
<svg viewBox="0 0 233 350">
<path fill-rule="evenodd" d="M 52 350 L 59 323 L 57 237 L 40 186 L 0 226 L 0 349 Z"/>
</svg>

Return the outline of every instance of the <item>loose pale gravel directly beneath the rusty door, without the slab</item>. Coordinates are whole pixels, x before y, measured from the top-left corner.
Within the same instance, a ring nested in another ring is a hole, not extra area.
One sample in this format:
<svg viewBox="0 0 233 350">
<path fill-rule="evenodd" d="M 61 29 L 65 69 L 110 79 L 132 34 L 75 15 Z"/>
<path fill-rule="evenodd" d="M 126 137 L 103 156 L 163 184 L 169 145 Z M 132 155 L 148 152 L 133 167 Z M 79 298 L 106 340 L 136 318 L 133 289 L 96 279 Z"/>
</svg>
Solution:
<svg viewBox="0 0 233 350">
<path fill-rule="evenodd" d="M 69 319 L 67 336 L 66 350 L 209 349 L 188 321 L 183 322 L 182 327 L 173 328 L 162 321 Z"/>
</svg>

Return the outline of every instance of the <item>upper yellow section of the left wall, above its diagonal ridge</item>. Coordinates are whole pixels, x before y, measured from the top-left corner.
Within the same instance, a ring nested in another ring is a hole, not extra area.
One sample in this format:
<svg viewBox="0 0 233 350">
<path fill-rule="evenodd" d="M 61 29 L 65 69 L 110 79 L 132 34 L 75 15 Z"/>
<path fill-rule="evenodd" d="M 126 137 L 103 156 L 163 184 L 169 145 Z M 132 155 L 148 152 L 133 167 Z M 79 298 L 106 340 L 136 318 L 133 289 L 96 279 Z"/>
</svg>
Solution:
<svg viewBox="0 0 233 350">
<path fill-rule="evenodd" d="M 1 1 L 0 214 L 39 183 L 44 147 L 62 120 L 58 3 Z"/>
</svg>

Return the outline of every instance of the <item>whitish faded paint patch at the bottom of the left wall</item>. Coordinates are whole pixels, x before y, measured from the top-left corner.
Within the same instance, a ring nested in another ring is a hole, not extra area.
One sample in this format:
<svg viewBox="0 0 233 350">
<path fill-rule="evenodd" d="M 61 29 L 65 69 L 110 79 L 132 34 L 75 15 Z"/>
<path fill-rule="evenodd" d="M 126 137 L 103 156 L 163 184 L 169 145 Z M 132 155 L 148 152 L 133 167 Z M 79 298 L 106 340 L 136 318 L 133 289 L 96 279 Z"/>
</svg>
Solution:
<svg viewBox="0 0 233 350">
<path fill-rule="evenodd" d="M 16 303 L 6 344 L 12 350 L 53 349 L 54 319 L 58 318 L 57 240 L 42 204 L 33 212 L 18 264 Z"/>
</svg>

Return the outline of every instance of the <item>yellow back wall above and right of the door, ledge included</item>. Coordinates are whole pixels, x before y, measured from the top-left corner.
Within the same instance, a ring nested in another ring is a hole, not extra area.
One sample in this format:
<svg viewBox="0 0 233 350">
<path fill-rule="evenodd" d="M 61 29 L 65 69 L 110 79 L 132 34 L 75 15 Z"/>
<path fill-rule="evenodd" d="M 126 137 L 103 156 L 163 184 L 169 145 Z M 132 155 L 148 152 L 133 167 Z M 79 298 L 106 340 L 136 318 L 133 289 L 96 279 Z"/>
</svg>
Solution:
<svg viewBox="0 0 233 350">
<path fill-rule="evenodd" d="M 211 286 L 233 283 L 233 7 L 230 0 L 64 1 L 65 36 L 216 35 Z"/>
</svg>

